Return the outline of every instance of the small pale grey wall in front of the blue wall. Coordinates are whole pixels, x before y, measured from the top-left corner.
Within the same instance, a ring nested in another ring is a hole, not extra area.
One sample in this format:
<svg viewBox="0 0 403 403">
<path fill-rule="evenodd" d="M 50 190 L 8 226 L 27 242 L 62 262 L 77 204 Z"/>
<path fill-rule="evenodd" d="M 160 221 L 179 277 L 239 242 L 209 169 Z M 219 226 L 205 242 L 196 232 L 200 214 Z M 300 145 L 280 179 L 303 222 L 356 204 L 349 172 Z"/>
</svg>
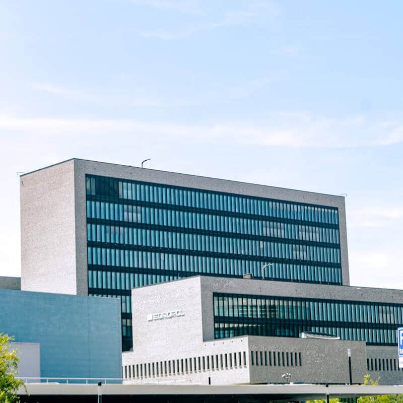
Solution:
<svg viewBox="0 0 403 403">
<path fill-rule="evenodd" d="M 20 378 L 40 378 L 41 376 L 41 349 L 39 343 L 11 343 L 11 349 L 17 349 L 20 358 L 18 376 Z M 33 379 L 28 380 L 34 381 Z"/>
</svg>

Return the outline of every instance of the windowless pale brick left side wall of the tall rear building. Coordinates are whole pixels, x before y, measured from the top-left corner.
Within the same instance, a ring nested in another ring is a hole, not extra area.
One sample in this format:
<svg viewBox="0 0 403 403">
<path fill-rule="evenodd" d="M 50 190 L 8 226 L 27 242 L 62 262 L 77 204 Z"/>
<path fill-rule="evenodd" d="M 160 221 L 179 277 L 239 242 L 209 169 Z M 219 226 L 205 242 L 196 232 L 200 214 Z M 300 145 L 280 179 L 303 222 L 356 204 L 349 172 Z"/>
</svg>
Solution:
<svg viewBox="0 0 403 403">
<path fill-rule="evenodd" d="M 22 175 L 20 198 L 21 289 L 77 294 L 74 161 Z"/>
</svg>

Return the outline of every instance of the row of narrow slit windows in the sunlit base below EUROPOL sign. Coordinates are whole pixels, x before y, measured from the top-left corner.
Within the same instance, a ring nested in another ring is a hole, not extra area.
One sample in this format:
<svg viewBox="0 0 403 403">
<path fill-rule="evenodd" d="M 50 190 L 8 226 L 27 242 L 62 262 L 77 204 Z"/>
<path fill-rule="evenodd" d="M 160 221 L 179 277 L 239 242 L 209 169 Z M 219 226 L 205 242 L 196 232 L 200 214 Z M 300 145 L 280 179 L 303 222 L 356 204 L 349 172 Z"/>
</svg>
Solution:
<svg viewBox="0 0 403 403">
<path fill-rule="evenodd" d="M 123 366 L 123 378 L 147 378 L 246 367 L 246 352 L 207 355 Z"/>
</svg>

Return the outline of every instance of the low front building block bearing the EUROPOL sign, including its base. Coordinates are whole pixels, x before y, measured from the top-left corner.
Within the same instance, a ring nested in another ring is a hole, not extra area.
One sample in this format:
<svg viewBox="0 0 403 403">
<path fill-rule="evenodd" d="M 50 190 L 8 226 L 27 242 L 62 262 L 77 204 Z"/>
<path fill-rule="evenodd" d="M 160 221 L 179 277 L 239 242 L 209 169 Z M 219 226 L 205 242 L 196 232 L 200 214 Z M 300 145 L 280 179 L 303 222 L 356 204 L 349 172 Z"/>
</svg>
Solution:
<svg viewBox="0 0 403 403">
<path fill-rule="evenodd" d="M 197 276 L 133 289 L 132 307 L 126 383 L 349 383 L 349 350 L 353 383 L 403 382 L 403 291 Z"/>
</svg>

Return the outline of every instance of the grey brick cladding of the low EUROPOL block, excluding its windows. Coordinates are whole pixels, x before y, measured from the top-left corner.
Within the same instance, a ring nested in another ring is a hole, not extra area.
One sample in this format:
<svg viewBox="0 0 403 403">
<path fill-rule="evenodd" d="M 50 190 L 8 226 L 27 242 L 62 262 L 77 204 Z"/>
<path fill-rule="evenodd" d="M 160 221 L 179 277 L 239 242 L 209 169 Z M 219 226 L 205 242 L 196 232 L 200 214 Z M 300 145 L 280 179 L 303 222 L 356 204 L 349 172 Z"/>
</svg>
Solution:
<svg viewBox="0 0 403 403">
<path fill-rule="evenodd" d="M 342 340 L 317 340 L 283 337 L 243 336 L 228 339 L 214 339 L 213 293 L 236 293 L 308 297 L 323 299 L 345 299 L 359 301 L 402 302 L 403 291 L 360 287 L 318 286 L 303 283 L 279 283 L 260 280 L 226 279 L 195 276 L 187 279 L 139 287 L 132 290 L 133 352 L 123 353 L 123 366 L 177 360 L 188 357 L 247 352 L 245 368 L 225 368 L 219 371 L 205 370 L 196 373 L 175 373 L 163 377 L 147 376 L 133 378 L 128 382 L 147 383 L 175 380 L 190 383 L 264 383 L 282 382 L 282 374 L 292 374 L 294 382 L 349 381 L 348 355 L 352 351 L 353 382 L 361 383 L 367 370 L 368 357 L 396 356 L 393 347 L 367 347 L 365 342 Z M 183 316 L 149 321 L 155 313 L 181 310 Z M 201 313 L 200 313 L 201 310 Z M 252 364 L 250 353 L 272 352 L 278 354 L 301 353 L 302 365 L 256 365 Z M 127 371 L 126 371 L 127 373 Z M 136 375 L 136 374 L 135 374 Z M 376 374 L 375 374 L 376 375 Z M 390 375 L 390 376 L 389 376 Z M 383 371 L 384 384 L 402 383 L 403 371 Z"/>
</svg>

